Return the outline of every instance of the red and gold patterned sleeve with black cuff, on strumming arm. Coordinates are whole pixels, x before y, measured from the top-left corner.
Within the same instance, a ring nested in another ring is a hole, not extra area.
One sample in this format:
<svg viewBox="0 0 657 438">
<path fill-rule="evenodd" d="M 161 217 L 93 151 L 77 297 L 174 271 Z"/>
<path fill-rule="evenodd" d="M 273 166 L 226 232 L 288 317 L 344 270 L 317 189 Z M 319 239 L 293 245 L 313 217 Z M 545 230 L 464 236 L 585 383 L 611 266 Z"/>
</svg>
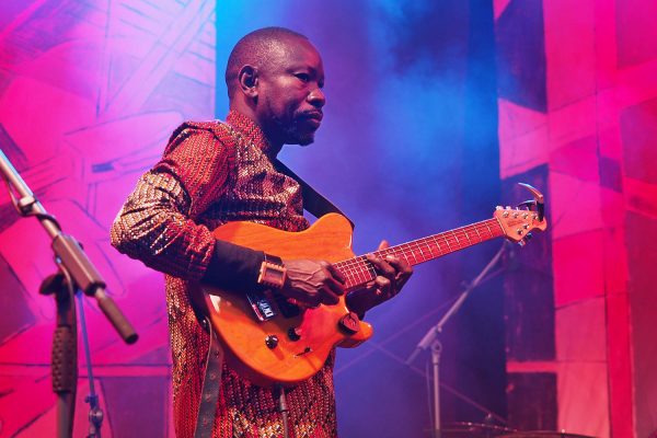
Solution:
<svg viewBox="0 0 657 438">
<path fill-rule="evenodd" d="M 112 244 L 147 266 L 186 280 L 254 279 L 262 253 L 219 242 L 195 218 L 223 195 L 234 153 L 211 130 L 183 125 L 118 212 Z M 208 269 L 210 267 L 210 269 Z M 212 275 L 209 275 L 209 270 Z M 223 275 L 216 278 L 217 272 Z M 228 273 L 228 274 L 227 274 Z"/>
</svg>

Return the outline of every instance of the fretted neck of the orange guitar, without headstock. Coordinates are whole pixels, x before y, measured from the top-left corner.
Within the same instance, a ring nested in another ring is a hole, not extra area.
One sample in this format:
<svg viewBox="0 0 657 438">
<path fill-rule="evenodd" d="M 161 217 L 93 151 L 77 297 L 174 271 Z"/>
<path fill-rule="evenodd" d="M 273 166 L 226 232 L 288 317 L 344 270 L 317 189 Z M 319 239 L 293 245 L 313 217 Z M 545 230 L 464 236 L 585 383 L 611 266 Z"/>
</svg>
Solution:
<svg viewBox="0 0 657 438">
<path fill-rule="evenodd" d="M 373 254 L 381 258 L 387 255 L 394 255 L 405 260 L 413 266 L 502 235 L 505 235 L 505 232 L 499 222 L 493 218 L 402 243 L 401 245 L 374 251 Z M 347 279 L 345 283 L 347 290 L 357 289 L 377 278 L 374 267 L 365 255 L 337 262 L 333 265 Z"/>
</svg>

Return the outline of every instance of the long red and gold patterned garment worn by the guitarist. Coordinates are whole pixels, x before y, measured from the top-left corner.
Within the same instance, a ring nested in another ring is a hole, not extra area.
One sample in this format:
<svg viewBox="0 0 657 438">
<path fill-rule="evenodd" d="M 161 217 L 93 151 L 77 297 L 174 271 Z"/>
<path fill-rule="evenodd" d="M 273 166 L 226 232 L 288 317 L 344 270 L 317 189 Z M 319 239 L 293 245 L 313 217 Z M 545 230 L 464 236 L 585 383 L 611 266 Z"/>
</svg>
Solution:
<svg viewBox="0 0 657 438">
<path fill-rule="evenodd" d="M 162 159 L 138 181 L 112 226 L 112 244 L 165 274 L 173 355 L 176 436 L 192 438 L 208 335 L 189 303 L 215 246 L 211 230 L 228 221 L 253 221 L 299 231 L 301 188 L 274 169 L 262 130 L 230 112 L 226 123 L 186 123 L 172 135 Z M 333 355 L 311 379 L 287 392 L 291 437 L 336 436 Z M 214 437 L 283 436 L 272 390 L 251 384 L 223 365 Z"/>
</svg>

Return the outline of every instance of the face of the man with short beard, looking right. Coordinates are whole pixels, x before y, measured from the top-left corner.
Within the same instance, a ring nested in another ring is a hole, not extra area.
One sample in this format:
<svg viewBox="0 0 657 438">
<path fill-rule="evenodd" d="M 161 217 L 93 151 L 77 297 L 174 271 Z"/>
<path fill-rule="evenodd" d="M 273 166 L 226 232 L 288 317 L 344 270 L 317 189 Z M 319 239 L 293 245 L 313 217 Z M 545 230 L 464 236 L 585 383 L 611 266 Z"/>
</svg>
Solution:
<svg viewBox="0 0 657 438">
<path fill-rule="evenodd" d="M 326 103 L 324 66 L 315 48 L 295 38 L 272 50 L 258 74 L 257 117 L 274 143 L 310 145 Z"/>
</svg>

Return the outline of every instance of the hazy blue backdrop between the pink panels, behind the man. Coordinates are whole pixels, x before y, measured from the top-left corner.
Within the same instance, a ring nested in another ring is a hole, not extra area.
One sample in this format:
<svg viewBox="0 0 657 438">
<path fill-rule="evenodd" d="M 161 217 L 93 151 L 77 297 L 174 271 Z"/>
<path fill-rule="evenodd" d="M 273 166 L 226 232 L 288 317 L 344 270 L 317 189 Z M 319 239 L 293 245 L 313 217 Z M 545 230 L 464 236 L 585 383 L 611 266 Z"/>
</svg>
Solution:
<svg viewBox="0 0 657 438">
<path fill-rule="evenodd" d="M 471 223 L 499 203 L 492 5 L 445 1 L 278 1 L 217 10 L 217 117 L 228 111 L 223 68 L 258 27 L 307 35 L 326 72 L 315 142 L 283 160 L 355 222 L 357 254 Z M 336 364 L 343 437 L 422 437 L 430 428 L 425 353 L 416 343 L 498 243 L 420 265 L 405 291 L 368 314 L 371 342 Z M 443 422 L 505 414 L 499 283 L 488 283 L 443 333 Z"/>
</svg>

